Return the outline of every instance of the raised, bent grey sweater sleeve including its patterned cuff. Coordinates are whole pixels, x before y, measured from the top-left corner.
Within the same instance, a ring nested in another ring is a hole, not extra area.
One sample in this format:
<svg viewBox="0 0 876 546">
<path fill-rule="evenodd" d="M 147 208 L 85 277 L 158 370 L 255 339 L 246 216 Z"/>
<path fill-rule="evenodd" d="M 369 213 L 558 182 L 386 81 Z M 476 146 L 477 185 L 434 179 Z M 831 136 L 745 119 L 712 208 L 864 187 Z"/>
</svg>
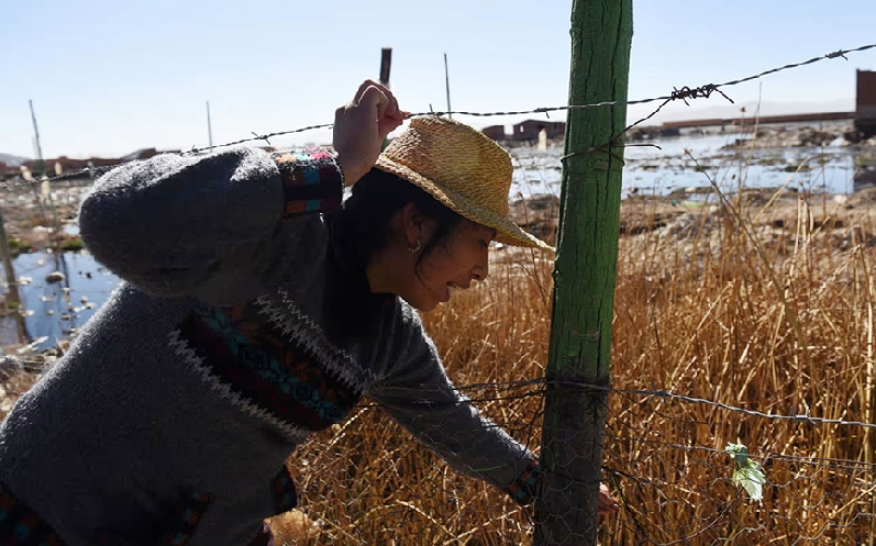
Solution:
<svg viewBox="0 0 876 546">
<path fill-rule="evenodd" d="M 289 232 L 307 241 L 319 222 L 309 213 L 336 208 L 342 193 L 341 170 L 321 149 L 165 154 L 101 177 L 79 229 L 97 260 L 141 290 L 232 303 L 236 287 L 258 283 L 289 254 Z"/>
</svg>

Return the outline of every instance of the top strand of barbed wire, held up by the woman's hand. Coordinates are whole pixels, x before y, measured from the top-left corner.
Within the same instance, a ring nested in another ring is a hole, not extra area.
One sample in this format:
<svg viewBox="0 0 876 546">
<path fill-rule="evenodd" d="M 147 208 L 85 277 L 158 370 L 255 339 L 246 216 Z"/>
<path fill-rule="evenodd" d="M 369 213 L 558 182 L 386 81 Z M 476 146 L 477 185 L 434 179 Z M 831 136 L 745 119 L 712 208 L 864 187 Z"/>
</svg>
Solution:
<svg viewBox="0 0 876 546">
<path fill-rule="evenodd" d="M 572 111 L 572 110 L 586 110 L 586 109 L 617 107 L 617 105 L 636 105 L 636 104 L 647 104 L 647 103 L 652 103 L 652 102 L 661 102 L 661 104 L 651 114 L 648 114 L 648 115 L 640 119 L 639 121 L 630 124 L 621 133 L 619 133 L 618 135 L 613 135 L 609 140 L 609 142 L 607 142 L 606 144 L 603 144 L 601 146 L 591 147 L 591 148 L 589 148 L 587 151 L 583 151 L 583 152 L 578 152 L 578 153 L 575 153 L 575 154 L 570 154 L 569 156 L 565 156 L 563 158 L 563 159 L 566 159 L 566 158 L 570 157 L 572 155 L 591 154 L 591 153 L 603 151 L 607 147 L 610 148 L 610 147 L 616 146 L 616 141 L 620 136 L 622 136 L 624 133 L 629 132 L 633 127 L 635 127 L 637 125 L 641 125 L 642 123 L 653 119 L 664 107 L 666 107 L 670 102 L 680 100 L 680 101 L 685 102 L 685 104 L 689 104 L 688 100 L 709 99 L 709 98 L 711 98 L 711 96 L 713 93 L 717 92 L 717 93 L 721 94 L 722 97 L 724 97 L 727 100 L 729 100 L 731 103 L 733 103 L 733 100 L 730 97 L 728 97 L 723 91 L 721 91 L 721 88 L 738 86 L 740 83 L 745 83 L 745 82 L 749 82 L 749 81 L 753 81 L 753 80 L 763 78 L 763 77 L 768 76 L 768 75 L 773 75 L 773 74 L 777 74 L 777 73 L 780 73 L 780 71 L 784 71 L 784 70 L 790 70 L 790 69 L 795 69 L 795 68 L 799 68 L 799 67 L 803 67 L 803 66 L 808 66 L 808 65 L 812 65 L 814 63 L 819 63 L 819 62 L 822 62 L 822 60 L 836 59 L 836 58 L 844 58 L 844 59 L 849 60 L 846 55 L 852 54 L 852 53 L 864 52 L 864 51 L 873 49 L 873 48 L 876 48 L 876 44 L 866 44 L 866 45 L 862 45 L 862 46 L 853 47 L 853 48 L 849 48 L 849 49 L 838 49 L 835 52 L 825 53 L 825 54 L 820 55 L 818 57 L 812 57 L 812 58 L 809 58 L 807 60 L 802 60 L 802 62 L 799 62 L 799 63 L 791 63 L 791 64 L 783 65 L 783 66 L 779 66 L 779 67 L 769 68 L 767 70 L 763 70 L 761 73 L 757 73 L 757 74 L 754 74 L 754 75 L 751 75 L 751 76 L 746 76 L 746 77 L 743 77 L 743 78 L 728 80 L 728 81 L 724 81 L 723 83 L 707 83 L 707 85 L 695 87 L 695 88 L 690 88 L 688 86 L 684 86 L 680 89 L 679 88 L 674 88 L 673 91 L 669 94 L 664 94 L 664 96 L 659 96 L 659 97 L 651 97 L 651 98 L 646 98 L 646 99 L 601 101 L 601 102 L 592 102 L 592 103 L 588 103 L 588 104 L 565 104 L 565 105 L 556 105 L 556 107 L 539 107 L 539 108 L 533 108 L 533 109 L 530 109 L 530 110 L 508 110 L 508 111 L 492 111 L 492 112 L 476 112 L 476 111 L 468 111 L 468 110 L 429 111 L 429 112 L 411 113 L 411 114 L 409 114 L 408 118 L 409 119 L 410 118 L 423 118 L 423 116 L 430 116 L 430 115 L 439 115 L 439 116 L 444 116 L 444 115 L 468 115 L 468 116 L 475 116 L 475 118 L 490 118 L 490 116 L 508 116 L 508 115 L 525 115 L 525 114 L 541 114 L 541 113 L 543 113 L 550 119 L 550 113 L 551 112 Z M 228 147 L 228 146 L 237 146 L 237 145 L 246 144 L 246 143 L 251 143 L 251 142 L 265 142 L 268 145 L 270 145 L 270 138 L 276 138 L 278 136 L 285 136 L 285 135 L 290 135 L 290 134 L 303 133 L 303 132 L 307 132 L 307 131 L 314 131 L 314 130 L 319 130 L 319 129 L 331 129 L 332 126 L 333 126 L 332 123 L 323 123 L 323 124 L 318 124 L 318 125 L 309 125 L 309 126 L 304 126 L 304 127 L 293 129 L 293 130 L 290 130 L 290 131 L 278 131 L 278 132 L 265 133 L 265 134 L 258 134 L 258 133 L 253 132 L 253 136 L 252 137 L 241 138 L 241 140 L 233 141 L 233 142 L 228 142 L 228 143 L 224 143 L 224 144 L 217 144 L 214 146 L 204 146 L 204 147 L 195 147 L 195 146 L 192 146 L 191 149 L 189 149 L 187 152 L 182 152 L 181 154 L 200 154 L 200 153 L 209 152 L 209 151 L 217 149 L 217 148 L 222 148 L 222 147 Z M 42 178 L 42 179 L 34 179 L 34 180 L 20 180 L 20 181 L 16 181 L 16 182 L 2 182 L 2 183 L 0 183 L 0 188 L 12 188 L 12 187 L 15 187 L 15 186 L 37 185 L 37 183 L 42 183 L 42 182 L 45 182 L 45 181 L 51 183 L 53 181 L 69 180 L 69 179 L 76 179 L 76 178 L 82 178 L 82 177 L 97 178 L 98 176 L 109 171 L 110 169 L 115 168 L 115 167 L 118 167 L 120 165 L 124 165 L 125 163 L 129 163 L 129 161 L 121 161 L 121 163 L 118 163 L 118 164 L 114 164 L 114 165 L 108 165 L 108 166 L 101 166 L 101 167 L 88 167 L 88 168 L 80 169 L 80 170 L 75 171 L 75 172 L 63 174 L 63 175 L 58 175 L 58 176 L 49 177 L 49 178 Z"/>
</svg>

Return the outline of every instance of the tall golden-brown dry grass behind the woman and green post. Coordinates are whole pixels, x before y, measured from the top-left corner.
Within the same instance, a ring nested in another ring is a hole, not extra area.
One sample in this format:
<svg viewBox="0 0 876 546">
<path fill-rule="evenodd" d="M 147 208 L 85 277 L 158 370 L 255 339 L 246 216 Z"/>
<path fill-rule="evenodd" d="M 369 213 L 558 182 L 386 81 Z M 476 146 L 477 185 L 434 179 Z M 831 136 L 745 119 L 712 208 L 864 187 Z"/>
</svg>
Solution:
<svg viewBox="0 0 876 546">
<path fill-rule="evenodd" d="M 864 544 L 873 535 L 874 224 L 869 193 L 687 211 L 625 202 L 605 480 L 621 500 L 607 544 Z M 487 282 L 425 317 L 458 386 L 537 379 L 547 358 L 551 264 L 499 249 Z M 537 450 L 537 386 L 467 390 Z M 762 503 L 731 481 L 728 443 L 767 477 Z M 377 408 L 290 458 L 301 512 L 289 544 L 526 544 L 531 509 L 450 470 Z M 304 515 L 307 514 L 307 515 Z"/>
</svg>

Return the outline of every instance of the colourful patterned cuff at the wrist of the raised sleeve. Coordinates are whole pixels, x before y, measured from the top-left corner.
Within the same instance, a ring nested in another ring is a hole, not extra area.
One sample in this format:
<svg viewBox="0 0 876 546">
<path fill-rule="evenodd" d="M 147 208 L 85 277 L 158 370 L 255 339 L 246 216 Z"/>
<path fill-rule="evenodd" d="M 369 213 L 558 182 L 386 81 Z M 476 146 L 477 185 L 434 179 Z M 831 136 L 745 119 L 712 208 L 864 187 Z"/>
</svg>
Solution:
<svg viewBox="0 0 876 546">
<path fill-rule="evenodd" d="M 271 156 L 282 176 L 286 209 L 282 219 L 302 212 L 325 212 L 341 204 L 343 174 L 322 148 L 278 152 Z"/>
</svg>

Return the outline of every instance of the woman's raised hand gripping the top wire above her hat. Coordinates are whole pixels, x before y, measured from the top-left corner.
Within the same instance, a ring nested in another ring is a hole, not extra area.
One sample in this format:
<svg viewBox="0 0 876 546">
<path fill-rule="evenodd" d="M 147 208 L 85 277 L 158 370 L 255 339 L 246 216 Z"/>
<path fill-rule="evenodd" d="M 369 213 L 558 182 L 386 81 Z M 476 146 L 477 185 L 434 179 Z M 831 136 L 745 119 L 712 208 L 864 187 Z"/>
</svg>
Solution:
<svg viewBox="0 0 876 546">
<path fill-rule="evenodd" d="M 353 100 L 334 112 L 332 145 L 344 181 L 353 186 L 374 167 L 386 136 L 404 121 L 392 92 L 365 80 Z"/>
</svg>

